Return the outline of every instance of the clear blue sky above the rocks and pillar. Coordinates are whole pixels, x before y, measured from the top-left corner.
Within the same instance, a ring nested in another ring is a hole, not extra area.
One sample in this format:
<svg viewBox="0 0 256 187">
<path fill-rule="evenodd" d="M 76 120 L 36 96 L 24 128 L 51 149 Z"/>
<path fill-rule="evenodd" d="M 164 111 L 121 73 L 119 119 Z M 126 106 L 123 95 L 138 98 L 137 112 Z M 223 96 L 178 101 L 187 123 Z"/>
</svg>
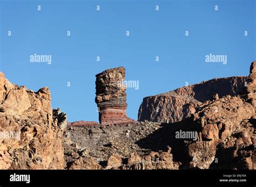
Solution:
<svg viewBox="0 0 256 187">
<path fill-rule="evenodd" d="M 95 75 L 105 69 L 123 66 L 126 80 L 139 81 L 126 91 L 127 115 L 137 119 L 146 96 L 247 76 L 256 60 L 254 0 L 0 2 L 0 70 L 29 89 L 49 87 L 69 121 L 98 121 Z M 51 64 L 30 62 L 35 53 Z M 210 53 L 227 63 L 207 63 Z"/>
</svg>

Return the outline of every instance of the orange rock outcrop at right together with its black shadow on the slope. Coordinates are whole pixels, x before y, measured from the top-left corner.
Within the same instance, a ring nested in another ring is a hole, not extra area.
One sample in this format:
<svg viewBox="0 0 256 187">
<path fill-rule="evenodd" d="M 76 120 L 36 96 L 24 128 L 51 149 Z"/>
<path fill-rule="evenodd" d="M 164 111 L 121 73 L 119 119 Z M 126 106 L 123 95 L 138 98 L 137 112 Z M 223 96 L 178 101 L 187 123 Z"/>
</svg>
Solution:
<svg viewBox="0 0 256 187">
<path fill-rule="evenodd" d="M 255 61 L 245 95 L 217 95 L 201 104 L 191 117 L 138 141 L 143 148 L 172 148 L 173 160 L 187 169 L 255 169 Z M 247 99 L 244 99 L 247 98 Z M 177 132 L 194 132 L 194 139 L 177 139 Z M 153 142 L 153 143 L 152 143 Z"/>
</svg>

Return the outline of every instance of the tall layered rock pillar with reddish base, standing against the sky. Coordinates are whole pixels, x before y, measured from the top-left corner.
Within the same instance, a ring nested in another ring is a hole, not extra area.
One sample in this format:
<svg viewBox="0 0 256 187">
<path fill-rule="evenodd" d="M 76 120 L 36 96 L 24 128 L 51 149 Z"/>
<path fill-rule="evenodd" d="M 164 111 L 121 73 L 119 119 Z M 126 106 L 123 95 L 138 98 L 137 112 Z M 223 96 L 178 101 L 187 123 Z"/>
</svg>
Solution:
<svg viewBox="0 0 256 187">
<path fill-rule="evenodd" d="M 96 75 L 96 98 L 99 122 L 102 125 L 127 124 L 133 120 L 126 116 L 126 87 L 123 86 L 125 69 L 107 69 Z"/>
</svg>

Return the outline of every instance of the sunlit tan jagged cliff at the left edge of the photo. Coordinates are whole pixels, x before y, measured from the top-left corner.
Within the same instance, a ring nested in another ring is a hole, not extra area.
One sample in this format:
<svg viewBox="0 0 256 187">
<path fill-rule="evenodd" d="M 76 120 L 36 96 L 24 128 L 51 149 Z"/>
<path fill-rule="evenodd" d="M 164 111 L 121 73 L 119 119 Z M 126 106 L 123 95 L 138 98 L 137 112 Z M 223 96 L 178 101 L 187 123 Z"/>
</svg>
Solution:
<svg viewBox="0 0 256 187">
<path fill-rule="evenodd" d="M 0 169 L 64 169 L 65 126 L 47 87 L 33 92 L 0 72 Z"/>
</svg>

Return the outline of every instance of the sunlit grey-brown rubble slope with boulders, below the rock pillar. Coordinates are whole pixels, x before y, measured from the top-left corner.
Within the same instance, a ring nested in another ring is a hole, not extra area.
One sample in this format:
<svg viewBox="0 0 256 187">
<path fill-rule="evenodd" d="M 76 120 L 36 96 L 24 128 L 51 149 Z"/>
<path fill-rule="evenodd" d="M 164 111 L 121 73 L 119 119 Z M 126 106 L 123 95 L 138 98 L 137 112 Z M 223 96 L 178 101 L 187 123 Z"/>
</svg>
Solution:
<svg viewBox="0 0 256 187">
<path fill-rule="evenodd" d="M 66 169 L 178 169 L 181 163 L 173 161 L 170 147 L 152 151 L 138 146 L 140 139 L 159 128 L 161 123 L 151 122 L 121 126 L 69 125 L 64 134 L 70 141 L 63 142 Z M 153 145 L 154 140 L 150 143 Z M 91 163 L 85 162 L 85 158 Z"/>
</svg>

